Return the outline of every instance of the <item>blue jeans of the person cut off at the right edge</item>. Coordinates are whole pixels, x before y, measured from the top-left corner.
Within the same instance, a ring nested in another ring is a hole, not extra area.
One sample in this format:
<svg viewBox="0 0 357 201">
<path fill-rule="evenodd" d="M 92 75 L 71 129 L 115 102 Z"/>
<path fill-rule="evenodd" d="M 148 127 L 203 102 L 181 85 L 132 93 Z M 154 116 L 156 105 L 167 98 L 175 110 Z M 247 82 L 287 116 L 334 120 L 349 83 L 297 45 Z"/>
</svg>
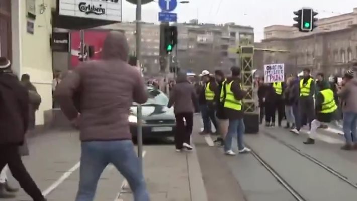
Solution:
<svg viewBox="0 0 357 201">
<path fill-rule="evenodd" d="M 343 113 L 343 132 L 347 143 L 356 142 L 357 139 L 357 113 Z"/>
</svg>

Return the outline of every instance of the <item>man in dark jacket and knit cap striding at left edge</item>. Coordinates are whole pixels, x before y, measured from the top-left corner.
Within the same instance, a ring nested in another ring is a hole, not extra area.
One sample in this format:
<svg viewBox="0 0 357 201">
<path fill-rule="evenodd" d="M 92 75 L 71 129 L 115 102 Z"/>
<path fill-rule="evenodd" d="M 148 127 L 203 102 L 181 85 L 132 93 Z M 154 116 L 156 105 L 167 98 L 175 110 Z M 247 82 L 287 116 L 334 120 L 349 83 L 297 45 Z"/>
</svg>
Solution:
<svg viewBox="0 0 357 201">
<path fill-rule="evenodd" d="M 0 57 L 0 170 L 8 164 L 15 179 L 35 201 L 46 200 L 27 172 L 19 153 L 29 124 L 29 95 L 10 68 L 10 61 Z M 6 154 L 4 154 L 6 153 Z"/>
</svg>

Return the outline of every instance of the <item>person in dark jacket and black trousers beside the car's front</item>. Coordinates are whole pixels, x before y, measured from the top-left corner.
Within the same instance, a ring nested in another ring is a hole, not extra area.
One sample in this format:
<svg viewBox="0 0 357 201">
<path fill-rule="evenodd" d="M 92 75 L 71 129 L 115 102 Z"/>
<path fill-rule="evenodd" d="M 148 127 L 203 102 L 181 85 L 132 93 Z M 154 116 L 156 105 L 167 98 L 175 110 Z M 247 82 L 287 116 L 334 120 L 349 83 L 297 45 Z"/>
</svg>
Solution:
<svg viewBox="0 0 357 201">
<path fill-rule="evenodd" d="M 174 107 L 176 117 L 175 145 L 176 151 L 183 148 L 191 151 L 190 143 L 193 128 L 193 113 L 198 108 L 195 88 L 187 80 L 186 73 L 177 74 L 176 84 L 170 92 L 168 108 Z M 186 121 L 186 124 L 185 124 Z"/>
</svg>

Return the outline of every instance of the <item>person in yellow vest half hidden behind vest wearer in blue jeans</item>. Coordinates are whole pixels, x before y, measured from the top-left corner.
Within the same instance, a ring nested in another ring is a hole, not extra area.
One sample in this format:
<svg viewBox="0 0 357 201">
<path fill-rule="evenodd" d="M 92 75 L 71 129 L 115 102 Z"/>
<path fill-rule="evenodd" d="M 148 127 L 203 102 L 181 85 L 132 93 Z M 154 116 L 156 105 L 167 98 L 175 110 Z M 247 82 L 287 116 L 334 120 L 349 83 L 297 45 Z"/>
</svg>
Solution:
<svg viewBox="0 0 357 201">
<path fill-rule="evenodd" d="M 214 142 L 219 143 L 219 146 L 224 146 L 223 139 L 225 138 L 228 132 L 228 118 L 224 112 L 224 98 L 226 96 L 225 83 L 227 79 L 225 78 L 222 70 L 216 70 L 215 77 L 218 83 L 218 90 L 217 90 L 217 94 L 215 95 L 215 101 L 217 106 L 216 117 L 217 117 L 220 137 L 217 137 L 217 139 Z"/>
</svg>

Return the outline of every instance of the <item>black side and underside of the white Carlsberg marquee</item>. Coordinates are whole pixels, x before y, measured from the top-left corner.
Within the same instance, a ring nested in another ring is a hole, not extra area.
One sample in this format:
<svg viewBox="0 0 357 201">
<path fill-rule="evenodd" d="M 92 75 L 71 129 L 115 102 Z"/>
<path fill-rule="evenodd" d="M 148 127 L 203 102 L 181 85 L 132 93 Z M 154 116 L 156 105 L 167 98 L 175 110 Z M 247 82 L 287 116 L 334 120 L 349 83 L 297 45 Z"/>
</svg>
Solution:
<svg viewBox="0 0 357 201">
<path fill-rule="evenodd" d="M 59 15 L 58 5 L 59 0 L 56 0 L 56 10 L 52 12 L 52 26 L 55 28 L 80 30 L 118 23 L 116 21 L 110 20 L 98 20 L 91 18 Z"/>
</svg>

